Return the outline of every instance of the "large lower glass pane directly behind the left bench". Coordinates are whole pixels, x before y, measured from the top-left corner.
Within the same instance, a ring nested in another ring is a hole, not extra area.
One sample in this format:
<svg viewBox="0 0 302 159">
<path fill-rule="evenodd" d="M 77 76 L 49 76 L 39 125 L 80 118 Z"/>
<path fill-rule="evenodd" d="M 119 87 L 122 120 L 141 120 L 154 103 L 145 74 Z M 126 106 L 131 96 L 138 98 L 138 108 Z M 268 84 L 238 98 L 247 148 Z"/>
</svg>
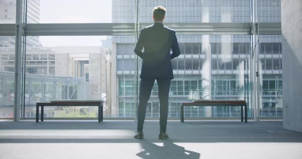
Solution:
<svg viewBox="0 0 302 159">
<path fill-rule="evenodd" d="M 132 39 L 134 43 L 133 36 L 126 37 L 128 42 Z M 130 55 L 120 56 L 117 52 L 121 50 L 120 41 L 125 37 L 28 38 L 38 39 L 39 43 L 29 43 L 25 52 L 25 117 L 35 116 L 35 102 L 53 99 L 102 99 L 106 101 L 105 116 L 135 115 L 135 59 Z M 128 46 L 134 46 L 133 43 Z M 126 48 L 129 49 L 122 50 L 133 51 L 131 47 Z M 45 110 L 45 117 L 97 117 L 97 108 L 52 107 Z"/>
</svg>

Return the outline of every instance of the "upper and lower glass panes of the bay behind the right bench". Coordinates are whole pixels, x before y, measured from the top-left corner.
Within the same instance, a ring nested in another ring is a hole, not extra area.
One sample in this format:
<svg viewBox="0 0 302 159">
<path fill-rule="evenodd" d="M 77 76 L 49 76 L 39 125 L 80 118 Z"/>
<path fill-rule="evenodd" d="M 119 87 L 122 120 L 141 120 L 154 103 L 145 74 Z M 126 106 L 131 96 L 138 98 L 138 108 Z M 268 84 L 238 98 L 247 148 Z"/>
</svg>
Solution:
<svg viewBox="0 0 302 159">
<path fill-rule="evenodd" d="M 154 6 L 167 10 L 166 23 L 249 22 L 250 1 L 148 1 L 139 3 L 139 22 L 152 24 Z M 172 60 L 169 117 L 180 117 L 181 102 L 246 99 L 250 105 L 249 35 L 177 35 L 181 55 Z M 159 117 L 155 83 L 147 117 Z M 249 107 L 250 110 L 250 107 Z M 186 117 L 239 117 L 240 108 L 186 107 Z M 250 116 L 250 115 L 249 115 Z"/>
</svg>

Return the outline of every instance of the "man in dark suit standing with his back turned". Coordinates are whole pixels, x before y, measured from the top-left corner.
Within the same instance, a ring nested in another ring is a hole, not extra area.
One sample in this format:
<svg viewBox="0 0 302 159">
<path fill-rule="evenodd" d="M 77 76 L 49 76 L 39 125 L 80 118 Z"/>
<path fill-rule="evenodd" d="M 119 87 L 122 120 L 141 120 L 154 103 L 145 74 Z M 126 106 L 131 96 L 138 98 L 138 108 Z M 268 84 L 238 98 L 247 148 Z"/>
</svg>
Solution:
<svg viewBox="0 0 302 159">
<path fill-rule="evenodd" d="M 140 31 L 134 52 L 142 58 L 141 82 L 138 103 L 137 133 L 134 138 L 143 139 L 143 124 L 147 102 L 155 80 L 158 84 L 160 103 L 160 134 L 159 139 L 166 139 L 168 98 L 170 81 L 174 78 L 171 59 L 180 55 L 175 31 L 163 25 L 166 9 L 162 6 L 153 9 L 154 24 Z M 144 52 L 142 49 L 144 48 Z M 172 52 L 170 49 L 172 48 Z"/>
</svg>

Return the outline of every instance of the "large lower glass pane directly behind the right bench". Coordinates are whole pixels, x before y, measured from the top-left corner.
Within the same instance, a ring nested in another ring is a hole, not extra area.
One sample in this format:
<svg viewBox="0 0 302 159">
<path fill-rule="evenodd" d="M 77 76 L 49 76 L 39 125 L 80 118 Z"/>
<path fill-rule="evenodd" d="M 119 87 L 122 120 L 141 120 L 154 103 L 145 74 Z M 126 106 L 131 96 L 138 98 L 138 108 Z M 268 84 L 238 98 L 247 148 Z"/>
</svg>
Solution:
<svg viewBox="0 0 302 159">
<path fill-rule="evenodd" d="M 191 37 L 199 41 L 202 55 L 180 56 L 178 69 L 175 70 L 171 82 L 169 102 L 170 117 L 180 112 L 176 109 L 178 102 L 188 102 L 194 99 L 245 99 L 250 104 L 250 39 L 249 36 L 238 35 L 179 35 L 179 43 L 186 47 Z M 222 42 L 226 40 L 226 42 Z M 203 42 L 208 41 L 208 43 Z M 233 46 L 238 52 L 233 54 Z M 184 49 L 187 52 L 186 49 Z M 185 62 L 185 67 L 180 61 Z M 192 66 L 192 69 L 190 68 Z M 183 71 L 184 69 L 184 71 Z M 249 106 L 250 107 L 250 106 Z M 208 110 L 207 110 L 208 109 Z M 186 117 L 239 117 L 240 108 L 229 107 L 186 107 Z"/>
</svg>

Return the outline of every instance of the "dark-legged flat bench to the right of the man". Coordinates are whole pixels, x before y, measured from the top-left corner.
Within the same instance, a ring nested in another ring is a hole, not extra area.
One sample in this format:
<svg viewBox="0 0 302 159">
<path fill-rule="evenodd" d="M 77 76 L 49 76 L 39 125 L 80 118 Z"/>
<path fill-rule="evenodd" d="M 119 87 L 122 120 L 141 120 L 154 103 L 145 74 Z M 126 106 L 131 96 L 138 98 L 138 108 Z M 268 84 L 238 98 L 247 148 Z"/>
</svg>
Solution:
<svg viewBox="0 0 302 159">
<path fill-rule="evenodd" d="M 241 121 L 243 122 L 243 107 L 245 122 L 247 122 L 247 103 L 246 100 L 194 100 L 193 102 L 182 102 L 180 121 L 184 122 L 184 107 L 185 106 L 230 106 L 241 107 Z"/>
</svg>

